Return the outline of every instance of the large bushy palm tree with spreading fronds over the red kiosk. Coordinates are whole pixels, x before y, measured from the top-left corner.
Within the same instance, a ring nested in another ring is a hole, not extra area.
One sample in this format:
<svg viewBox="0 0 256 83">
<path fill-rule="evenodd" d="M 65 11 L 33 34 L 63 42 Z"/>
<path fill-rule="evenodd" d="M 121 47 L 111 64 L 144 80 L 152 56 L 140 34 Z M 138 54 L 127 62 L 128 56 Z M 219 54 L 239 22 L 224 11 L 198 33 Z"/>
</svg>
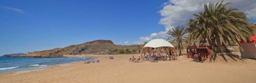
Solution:
<svg viewBox="0 0 256 83">
<path fill-rule="evenodd" d="M 229 53 L 226 44 L 240 40 L 249 41 L 254 32 L 246 14 L 236 8 L 226 8 L 228 3 L 217 2 L 204 5 L 204 12 L 194 14 L 195 19 L 188 24 L 188 40 L 191 44 L 199 45 L 206 42 L 215 53 Z"/>
</svg>

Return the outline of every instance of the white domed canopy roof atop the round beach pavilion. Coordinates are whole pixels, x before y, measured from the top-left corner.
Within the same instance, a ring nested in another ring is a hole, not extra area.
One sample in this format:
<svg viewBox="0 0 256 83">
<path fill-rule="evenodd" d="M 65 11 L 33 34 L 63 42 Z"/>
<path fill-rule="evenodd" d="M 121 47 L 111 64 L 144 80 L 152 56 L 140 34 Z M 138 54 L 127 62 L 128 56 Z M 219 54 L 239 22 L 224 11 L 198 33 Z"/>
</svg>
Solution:
<svg viewBox="0 0 256 83">
<path fill-rule="evenodd" d="M 171 47 L 171 48 L 173 48 L 173 45 L 163 39 L 153 39 L 153 40 L 149 41 L 143 48 L 145 48 L 145 47 L 151 47 L 151 48 Z"/>
</svg>

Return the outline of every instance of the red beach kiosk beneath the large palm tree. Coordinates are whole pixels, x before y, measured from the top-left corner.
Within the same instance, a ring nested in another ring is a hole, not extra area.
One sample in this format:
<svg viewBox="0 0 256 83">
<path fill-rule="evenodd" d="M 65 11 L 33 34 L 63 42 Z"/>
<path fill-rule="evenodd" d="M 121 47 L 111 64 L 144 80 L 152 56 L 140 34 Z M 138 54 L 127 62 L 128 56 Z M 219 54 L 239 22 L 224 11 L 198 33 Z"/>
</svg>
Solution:
<svg viewBox="0 0 256 83">
<path fill-rule="evenodd" d="M 193 58 L 195 61 L 202 61 L 211 57 L 210 47 L 206 44 L 200 44 L 197 46 L 188 46 L 187 47 L 187 57 Z"/>
</svg>

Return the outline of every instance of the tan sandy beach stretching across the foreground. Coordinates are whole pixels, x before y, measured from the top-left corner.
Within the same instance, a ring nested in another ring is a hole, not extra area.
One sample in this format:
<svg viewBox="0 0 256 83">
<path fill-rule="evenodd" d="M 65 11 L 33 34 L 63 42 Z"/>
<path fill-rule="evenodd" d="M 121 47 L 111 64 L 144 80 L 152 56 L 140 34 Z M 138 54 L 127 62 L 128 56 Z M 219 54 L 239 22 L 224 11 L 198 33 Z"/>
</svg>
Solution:
<svg viewBox="0 0 256 83">
<path fill-rule="evenodd" d="M 131 55 L 115 55 L 114 59 L 108 55 L 75 56 L 99 57 L 101 62 L 3 73 L 0 83 L 256 83 L 254 59 L 244 63 L 198 63 L 180 56 L 173 61 L 134 63 L 128 62 Z"/>
</svg>

